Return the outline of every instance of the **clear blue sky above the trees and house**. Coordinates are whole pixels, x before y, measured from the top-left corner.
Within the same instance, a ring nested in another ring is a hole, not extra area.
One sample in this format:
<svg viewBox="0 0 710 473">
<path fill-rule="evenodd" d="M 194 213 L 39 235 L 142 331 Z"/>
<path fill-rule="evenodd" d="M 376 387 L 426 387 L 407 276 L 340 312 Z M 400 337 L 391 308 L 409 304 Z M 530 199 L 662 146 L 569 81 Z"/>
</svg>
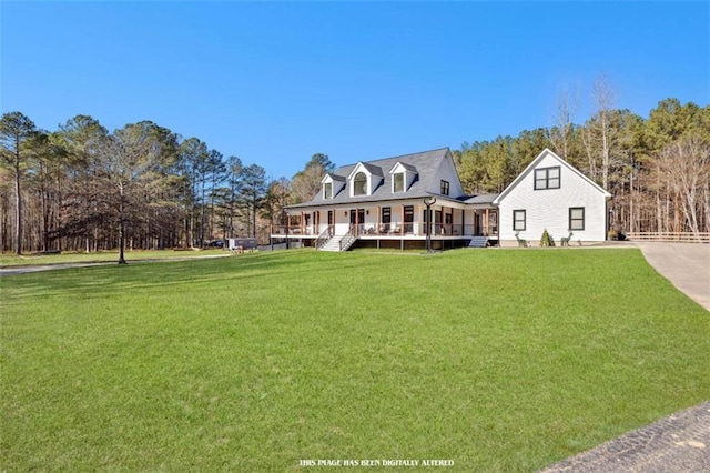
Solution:
<svg viewBox="0 0 710 473">
<path fill-rule="evenodd" d="M 710 2 L 0 2 L 0 110 L 151 120 L 291 178 L 576 122 L 605 73 L 647 117 L 710 102 Z"/>
</svg>

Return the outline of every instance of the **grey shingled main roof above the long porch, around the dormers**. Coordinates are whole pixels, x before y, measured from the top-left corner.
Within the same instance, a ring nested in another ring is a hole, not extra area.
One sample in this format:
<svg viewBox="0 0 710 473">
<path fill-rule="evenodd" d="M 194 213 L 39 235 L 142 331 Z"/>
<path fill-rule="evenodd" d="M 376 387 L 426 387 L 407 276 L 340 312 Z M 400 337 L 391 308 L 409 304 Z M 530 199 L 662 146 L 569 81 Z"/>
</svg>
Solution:
<svg viewBox="0 0 710 473">
<path fill-rule="evenodd" d="M 424 151 L 420 153 L 404 154 L 399 157 L 385 158 L 367 162 L 358 162 L 355 164 L 347 164 L 338 168 L 331 173 L 333 179 L 335 177 L 349 177 L 355 168 L 359 164 L 365 167 L 372 174 L 381 177 L 383 179 L 382 184 L 373 190 L 371 195 L 355 195 L 351 197 L 349 192 L 341 192 L 333 199 L 323 199 L 323 192 L 317 192 L 316 195 L 308 202 L 303 202 L 287 208 L 300 207 L 314 207 L 314 205 L 333 205 L 341 203 L 355 203 L 355 202 L 377 202 L 386 200 L 400 200 L 400 199 L 418 199 L 432 195 L 429 190 L 439 189 L 439 175 L 438 170 L 442 167 L 442 162 L 446 159 L 450 159 L 450 152 L 448 148 L 439 148 L 437 150 Z M 412 167 L 417 172 L 417 179 L 414 180 L 412 185 L 405 192 L 392 192 L 392 179 L 393 174 L 389 172 L 383 172 L 383 170 L 392 170 L 397 163 L 406 167 Z M 345 178 L 343 178 L 345 179 Z M 346 188 L 349 183 L 346 183 Z M 446 197 L 438 195 L 437 198 L 456 200 L 456 195 Z"/>
</svg>

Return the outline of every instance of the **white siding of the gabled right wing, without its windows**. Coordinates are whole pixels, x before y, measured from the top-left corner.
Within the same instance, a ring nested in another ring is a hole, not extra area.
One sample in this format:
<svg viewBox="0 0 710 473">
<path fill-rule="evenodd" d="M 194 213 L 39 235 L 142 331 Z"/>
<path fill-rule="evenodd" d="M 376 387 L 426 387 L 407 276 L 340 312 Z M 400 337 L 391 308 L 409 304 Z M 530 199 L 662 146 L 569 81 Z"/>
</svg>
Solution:
<svg viewBox="0 0 710 473">
<path fill-rule="evenodd" d="M 560 167 L 560 188 L 535 190 L 535 169 Z M 513 211 L 526 211 L 526 229 L 520 238 L 538 242 L 545 229 L 559 244 L 568 235 L 569 209 L 585 208 L 585 230 L 575 231 L 571 241 L 604 241 L 606 239 L 607 210 L 605 194 L 575 170 L 548 153 L 508 191 L 499 203 L 501 240 L 515 240 Z"/>
</svg>

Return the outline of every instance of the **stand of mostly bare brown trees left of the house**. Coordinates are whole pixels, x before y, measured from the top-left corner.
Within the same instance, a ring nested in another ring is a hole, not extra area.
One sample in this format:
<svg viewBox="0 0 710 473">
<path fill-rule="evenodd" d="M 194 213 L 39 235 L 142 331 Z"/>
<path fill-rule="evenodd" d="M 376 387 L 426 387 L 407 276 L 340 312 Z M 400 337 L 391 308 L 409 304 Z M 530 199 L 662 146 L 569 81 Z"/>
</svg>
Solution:
<svg viewBox="0 0 710 473">
<path fill-rule="evenodd" d="M 48 132 L 10 112 L 0 119 L 0 249 L 18 254 L 256 236 L 283 197 L 261 165 L 150 121 L 109 132 L 78 115 Z"/>
</svg>

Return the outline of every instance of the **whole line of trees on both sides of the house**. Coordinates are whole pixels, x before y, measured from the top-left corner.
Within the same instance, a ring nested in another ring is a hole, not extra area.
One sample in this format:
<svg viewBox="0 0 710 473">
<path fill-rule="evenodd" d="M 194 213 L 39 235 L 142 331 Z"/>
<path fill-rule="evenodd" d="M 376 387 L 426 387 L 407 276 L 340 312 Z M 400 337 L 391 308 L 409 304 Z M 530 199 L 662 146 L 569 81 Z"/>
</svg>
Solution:
<svg viewBox="0 0 710 473">
<path fill-rule="evenodd" d="M 710 231 L 710 107 L 666 99 L 647 119 L 611 107 L 574 123 L 558 98 L 556 123 L 464 143 L 453 154 L 469 194 L 500 192 L 550 148 L 612 195 L 616 231 Z M 268 240 L 284 207 L 311 200 L 335 165 L 316 153 L 291 179 L 224 157 L 151 121 L 109 132 L 88 115 L 54 131 L 21 112 L 0 119 L 0 250 L 202 248 L 234 236 Z"/>
</svg>

